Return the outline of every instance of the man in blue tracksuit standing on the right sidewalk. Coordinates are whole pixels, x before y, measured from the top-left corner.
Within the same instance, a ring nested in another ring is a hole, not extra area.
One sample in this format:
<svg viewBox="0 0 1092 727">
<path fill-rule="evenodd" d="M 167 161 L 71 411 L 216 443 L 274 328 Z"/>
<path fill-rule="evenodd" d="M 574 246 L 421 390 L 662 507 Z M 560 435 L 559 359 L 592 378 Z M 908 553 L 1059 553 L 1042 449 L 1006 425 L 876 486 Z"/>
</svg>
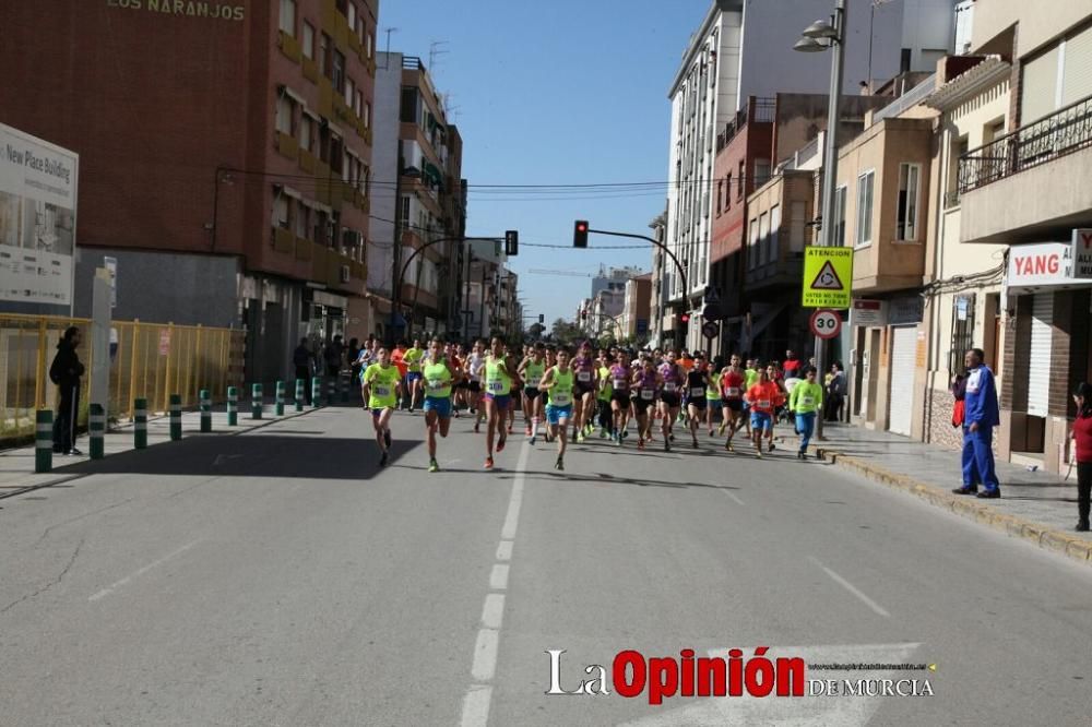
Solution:
<svg viewBox="0 0 1092 727">
<path fill-rule="evenodd" d="M 997 388 L 994 372 L 982 362 L 981 348 L 966 351 L 966 415 L 963 421 L 963 487 L 952 490 L 957 494 L 975 494 L 980 498 L 999 498 L 1001 488 L 994 473 L 994 427 L 998 426 Z M 985 489 L 978 492 L 978 485 Z"/>
</svg>

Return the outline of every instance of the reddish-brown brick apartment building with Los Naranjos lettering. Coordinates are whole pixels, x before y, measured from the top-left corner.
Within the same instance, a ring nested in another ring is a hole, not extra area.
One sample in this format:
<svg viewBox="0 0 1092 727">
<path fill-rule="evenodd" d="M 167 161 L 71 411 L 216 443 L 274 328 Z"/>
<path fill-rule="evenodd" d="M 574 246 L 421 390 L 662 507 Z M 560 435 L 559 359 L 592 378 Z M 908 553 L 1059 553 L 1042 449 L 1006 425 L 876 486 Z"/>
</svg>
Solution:
<svg viewBox="0 0 1092 727">
<path fill-rule="evenodd" d="M 246 326 L 248 380 L 344 330 L 377 0 L 9 4 L 4 121 L 80 154 L 78 315 L 110 257 L 117 318 Z M 46 16 L 66 52 L 39 41 Z"/>
</svg>

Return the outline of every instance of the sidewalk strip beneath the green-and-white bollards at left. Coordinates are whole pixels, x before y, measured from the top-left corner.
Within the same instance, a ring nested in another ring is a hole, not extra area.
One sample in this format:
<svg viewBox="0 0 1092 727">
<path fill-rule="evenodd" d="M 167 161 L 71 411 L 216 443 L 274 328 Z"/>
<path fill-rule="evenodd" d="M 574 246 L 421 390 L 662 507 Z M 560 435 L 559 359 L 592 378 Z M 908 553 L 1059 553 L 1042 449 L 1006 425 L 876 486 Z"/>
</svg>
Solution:
<svg viewBox="0 0 1092 727">
<path fill-rule="evenodd" d="M 191 437 L 230 437 L 244 432 L 260 429 L 275 421 L 284 421 L 295 417 L 306 416 L 309 412 L 314 412 L 313 407 L 305 407 L 301 413 L 296 413 L 295 405 L 285 406 L 284 416 L 277 417 L 273 414 L 273 405 L 262 409 L 261 419 L 250 418 L 250 405 L 244 404 L 246 409 L 239 412 L 239 425 L 237 427 L 227 426 L 227 413 L 224 407 L 214 407 L 212 414 L 212 433 L 201 433 L 201 415 L 198 412 L 182 413 L 182 438 Z M 337 405 L 335 405 L 337 406 Z M 152 448 L 170 441 L 170 417 L 162 416 L 150 418 L 147 422 L 147 445 Z M 21 446 L 0 453 L 0 499 L 60 482 L 82 477 L 83 473 L 71 472 L 70 466 L 87 462 L 91 457 L 91 439 L 86 433 L 80 434 L 76 446 L 83 452 L 81 456 L 63 456 L 54 454 L 54 469 L 50 473 L 35 474 L 34 472 L 34 445 Z M 106 456 L 120 454 L 134 450 L 133 426 L 132 424 L 116 427 L 106 433 L 104 440 Z"/>
</svg>

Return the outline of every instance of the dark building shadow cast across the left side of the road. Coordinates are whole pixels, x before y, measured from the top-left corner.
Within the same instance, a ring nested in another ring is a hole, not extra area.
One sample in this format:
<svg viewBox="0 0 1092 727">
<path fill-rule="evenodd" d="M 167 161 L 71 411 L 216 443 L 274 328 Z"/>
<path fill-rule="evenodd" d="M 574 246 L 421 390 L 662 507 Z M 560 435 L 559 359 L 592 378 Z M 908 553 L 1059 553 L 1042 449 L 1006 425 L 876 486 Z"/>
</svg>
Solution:
<svg viewBox="0 0 1092 727">
<path fill-rule="evenodd" d="M 397 464 L 422 444 L 395 439 L 391 446 L 390 465 Z M 103 460 L 88 460 L 66 467 L 64 472 L 79 475 L 370 479 L 380 472 L 380 467 L 379 448 L 371 439 L 254 433 L 247 437 L 192 437 L 142 451 L 111 454 Z"/>
</svg>

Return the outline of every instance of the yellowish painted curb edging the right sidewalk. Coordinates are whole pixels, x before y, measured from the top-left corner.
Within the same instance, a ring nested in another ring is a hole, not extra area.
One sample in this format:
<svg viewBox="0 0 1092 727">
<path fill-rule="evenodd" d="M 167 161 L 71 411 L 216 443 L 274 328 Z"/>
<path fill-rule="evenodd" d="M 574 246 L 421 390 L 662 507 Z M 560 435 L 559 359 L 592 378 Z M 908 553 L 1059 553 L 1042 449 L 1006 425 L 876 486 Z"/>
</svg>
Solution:
<svg viewBox="0 0 1092 727">
<path fill-rule="evenodd" d="M 824 462 L 851 469 L 867 479 L 886 485 L 891 489 L 913 494 L 931 505 L 953 512 L 961 517 L 973 520 L 981 525 L 986 525 L 995 531 L 1005 533 L 1009 537 L 1022 538 L 1029 543 L 1034 543 L 1044 550 L 1049 550 L 1087 565 L 1092 565 L 1092 541 L 1090 540 L 1069 535 L 1063 531 L 1052 529 L 1023 517 L 998 512 L 995 508 L 987 504 L 938 490 L 909 475 L 890 472 L 864 460 L 851 457 L 823 448 L 812 449 L 816 456 Z"/>
</svg>

